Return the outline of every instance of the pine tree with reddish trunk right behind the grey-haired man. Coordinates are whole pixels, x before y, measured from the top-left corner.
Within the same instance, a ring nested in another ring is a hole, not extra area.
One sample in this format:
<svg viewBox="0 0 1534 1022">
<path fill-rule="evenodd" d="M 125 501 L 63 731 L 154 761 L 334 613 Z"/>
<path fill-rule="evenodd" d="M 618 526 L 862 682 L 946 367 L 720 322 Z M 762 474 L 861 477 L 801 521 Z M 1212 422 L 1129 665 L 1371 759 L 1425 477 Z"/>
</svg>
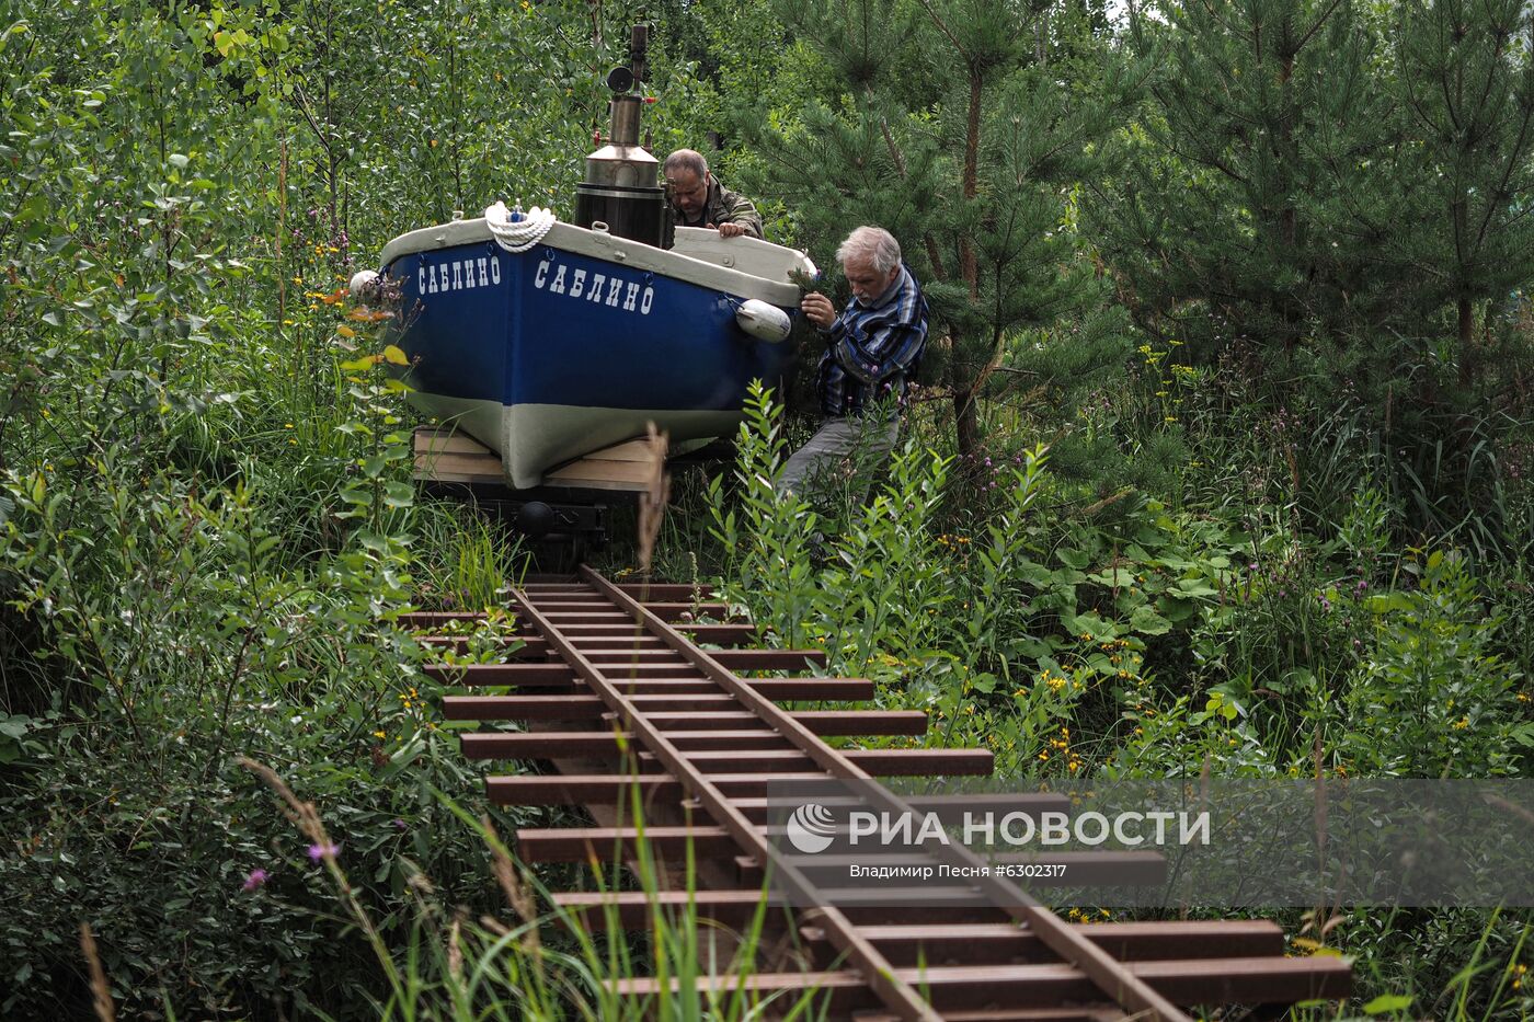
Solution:
<svg viewBox="0 0 1534 1022">
<path fill-rule="evenodd" d="M 1088 64 L 1092 18 L 1071 8 L 1071 60 L 1051 64 L 1058 37 L 1042 11 L 1019 0 L 779 0 L 822 61 L 825 89 L 792 124 L 755 124 L 769 184 L 792 196 L 811 250 L 858 224 L 900 239 L 933 307 L 928 373 L 943 381 L 960 454 L 980 447 L 980 399 L 1012 385 L 1005 370 L 1023 331 L 1100 296 L 1063 221 L 1112 86 L 1055 80 Z"/>
</svg>

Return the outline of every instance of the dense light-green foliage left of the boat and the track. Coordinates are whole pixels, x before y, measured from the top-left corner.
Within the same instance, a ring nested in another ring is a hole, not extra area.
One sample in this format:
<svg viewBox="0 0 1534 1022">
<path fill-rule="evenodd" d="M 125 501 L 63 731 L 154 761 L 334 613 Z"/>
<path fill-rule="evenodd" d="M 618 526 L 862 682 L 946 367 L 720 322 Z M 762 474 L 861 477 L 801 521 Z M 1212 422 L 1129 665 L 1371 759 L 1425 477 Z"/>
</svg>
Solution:
<svg viewBox="0 0 1534 1022">
<path fill-rule="evenodd" d="M 486 904 L 433 795 L 472 773 L 390 617 L 483 606 L 514 563 L 413 506 L 397 387 L 337 287 L 454 207 L 548 201 L 614 55 L 529 5 L 0 20 L 0 1013 L 86 1010 L 83 921 L 133 1014 L 367 1011 L 377 964 L 236 758 L 324 806 L 387 938 L 416 876 Z"/>
</svg>

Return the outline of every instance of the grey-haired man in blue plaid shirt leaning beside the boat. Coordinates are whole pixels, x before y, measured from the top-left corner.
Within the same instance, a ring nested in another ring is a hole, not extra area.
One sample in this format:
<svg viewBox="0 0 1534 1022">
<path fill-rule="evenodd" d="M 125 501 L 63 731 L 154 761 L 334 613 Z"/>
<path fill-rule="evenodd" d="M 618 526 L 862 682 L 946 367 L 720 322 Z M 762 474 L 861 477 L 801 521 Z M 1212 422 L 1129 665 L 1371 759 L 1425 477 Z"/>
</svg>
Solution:
<svg viewBox="0 0 1534 1022">
<path fill-rule="evenodd" d="M 825 295 L 801 308 L 825 338 L 816 374 L 819 431 L 784 466 L 781 493 L 862 457 L 882 460 L 894 448 L 899 405 L 927 345 L 927 299 L 900 262 L 900 242 L 882 227 L 859 227 L 836 250 L 853 301 L 836 313 Z M 856 457 L 854 457 L 856 456 Z"/>
</svg>

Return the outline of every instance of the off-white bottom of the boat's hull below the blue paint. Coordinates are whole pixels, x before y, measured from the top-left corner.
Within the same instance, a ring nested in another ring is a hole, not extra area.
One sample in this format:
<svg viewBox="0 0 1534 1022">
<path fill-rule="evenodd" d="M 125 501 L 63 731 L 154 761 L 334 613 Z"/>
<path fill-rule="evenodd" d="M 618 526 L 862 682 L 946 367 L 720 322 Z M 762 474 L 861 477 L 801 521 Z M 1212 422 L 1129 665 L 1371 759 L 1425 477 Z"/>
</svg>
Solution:
<svg viewBox="0 0 1534 1022">
<path fill-rule="evenodd" d="M 574 405 L 512 405 L 495 401 L 413 393 L 417 408 L 440 425 L 468 433 L 500 454 L 515 490 L 543 483 L 543 473 L 604 447 L 646 434 L 650 422 L 680 440 L 732 436 L 739 411 L 577 408 Z"/>
</svg>

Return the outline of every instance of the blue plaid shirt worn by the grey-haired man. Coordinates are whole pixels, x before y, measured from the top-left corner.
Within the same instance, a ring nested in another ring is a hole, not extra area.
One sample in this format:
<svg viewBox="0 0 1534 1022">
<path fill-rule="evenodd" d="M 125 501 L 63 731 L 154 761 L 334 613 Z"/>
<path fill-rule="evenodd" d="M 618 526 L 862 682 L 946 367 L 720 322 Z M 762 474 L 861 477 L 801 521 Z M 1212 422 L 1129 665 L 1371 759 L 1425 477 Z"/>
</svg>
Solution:
<svg viewBox="0 0 1534 1022">
<path fill-rule="evenodd" d="M 927 299 L 911 275 L 900 276 L 871 304 L 853 299 L 828 328 L 825 354 L 815 377 L 821 411 L 827 416 L 862 414 L 868 402 L 894 394 L 905 401 L 910 376 L 927 345 Z"/>
</svg>

